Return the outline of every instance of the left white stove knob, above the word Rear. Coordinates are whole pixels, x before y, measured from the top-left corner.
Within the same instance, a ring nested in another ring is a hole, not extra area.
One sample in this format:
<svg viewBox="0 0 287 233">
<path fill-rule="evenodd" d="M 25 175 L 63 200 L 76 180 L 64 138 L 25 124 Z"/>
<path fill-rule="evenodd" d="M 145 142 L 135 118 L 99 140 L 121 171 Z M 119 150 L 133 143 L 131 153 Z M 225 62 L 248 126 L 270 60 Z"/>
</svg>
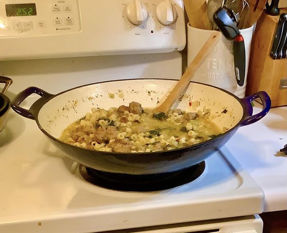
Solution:
<svg viewBox="0 0 287 233">
<path fill-rule="evenodd" d="M 139 25 L 148 17 L 148 10 L 140 0 L 133 0 L 126 10 L 127 17 L 132 24 Z"/>
</svg>

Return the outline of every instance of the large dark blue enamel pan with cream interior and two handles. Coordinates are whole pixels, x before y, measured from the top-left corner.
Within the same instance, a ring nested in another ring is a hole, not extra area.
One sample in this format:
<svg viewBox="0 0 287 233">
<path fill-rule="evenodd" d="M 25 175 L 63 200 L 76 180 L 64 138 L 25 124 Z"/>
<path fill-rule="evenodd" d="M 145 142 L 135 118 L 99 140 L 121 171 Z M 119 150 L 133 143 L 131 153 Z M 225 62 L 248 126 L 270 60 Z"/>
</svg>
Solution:
<svg viewBox="0 0 287 233">
<path fill-rule="evenodd" d="M 128 175 L 169 173 L 198 164 L 222 147 L 239 127 L 258 121 L 270 110 L 270 98 L 265 92 L 239 99 L 220 88 L 190 82 L 185 96 L 174 107 L 189 112 L 203 110 L 203 107 L 211 109 L 211 115 L 215 117 L 213 122 L 221 129 L 225 127 L 225 133 L 182 149 L 150 153 L 88 150 L 58 140 L 69 124 L 83 117 L 93 107 L 108 109 L 128 105 L 131 101 L 140 102 L 143 107 L 155 107 L 176 82 L 166 79 L 120 80 L 88 84 L 56 95 L 29 87 L 17 95 L 12 108 L 18 114 L 34 119 L 51 142 L 72 160 L 103 172 Z M 21 108 L 19 104 L 33 93 L 41 98 L 29 110 Z M 111 94 L 115 97 L 110 98 Z M 257 98 L 262 101 L 263 109 L 252 116 L 251 101 Z"/>
</svg>

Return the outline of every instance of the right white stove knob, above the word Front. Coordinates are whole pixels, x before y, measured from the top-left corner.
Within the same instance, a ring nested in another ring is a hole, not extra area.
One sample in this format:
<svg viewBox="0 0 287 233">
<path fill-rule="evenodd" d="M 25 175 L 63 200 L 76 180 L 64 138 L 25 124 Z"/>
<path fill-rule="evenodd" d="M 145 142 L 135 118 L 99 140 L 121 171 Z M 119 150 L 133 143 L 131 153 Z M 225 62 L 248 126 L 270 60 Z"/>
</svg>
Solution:
<svg viewBox="0 0 287 233">
<path fill-rule="evenodd" d="M 169 25 L 174 22 L 177 17 L 177 12 L 171 0 L 164 0 L 157 5 L 156 17 L 163 25 Z"/>
</svg>

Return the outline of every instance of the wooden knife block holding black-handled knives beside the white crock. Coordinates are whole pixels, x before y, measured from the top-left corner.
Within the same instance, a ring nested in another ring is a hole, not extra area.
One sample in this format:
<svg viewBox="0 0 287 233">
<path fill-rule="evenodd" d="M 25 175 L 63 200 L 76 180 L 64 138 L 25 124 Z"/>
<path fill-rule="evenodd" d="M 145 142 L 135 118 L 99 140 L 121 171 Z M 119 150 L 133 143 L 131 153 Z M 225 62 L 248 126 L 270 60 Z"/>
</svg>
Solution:
<svg viewBox="0 0 287 233">
<path fill-rule="evenodd" d="M 282 13 L 287 13 L 287 8 L 280 9 Z M 287 89 L 280 89 L 281 79 L 287 79 L 287 59 L 273 60 L 270 57 L 279 17 L 263 12 L 257 20 L 247 74 L 246 94 L 266 91 L 271 107 L 287 105 Z"/>
</svg>

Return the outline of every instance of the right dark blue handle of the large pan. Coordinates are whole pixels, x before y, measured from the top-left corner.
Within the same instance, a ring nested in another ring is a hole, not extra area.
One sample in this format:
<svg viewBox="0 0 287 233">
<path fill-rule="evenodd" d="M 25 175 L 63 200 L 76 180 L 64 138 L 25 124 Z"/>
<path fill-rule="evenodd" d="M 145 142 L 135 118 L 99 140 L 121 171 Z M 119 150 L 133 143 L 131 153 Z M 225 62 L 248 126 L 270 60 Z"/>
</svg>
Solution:
<svg viewBox="0 0 287 233">
<path fill-rule="evenodd" d="M 251 102 L 257 98 L 259 98 L 263 104 L 262 111 L 252 116 L 253 107 L 251 105 Z M 260 120 L 263 116 L 265 116 L 271 108 L 270 97 L 265 91 L 259 91 L 257 93 L 252 94 L 251 96 L 247 96 L 243 98 L 241 102 L 244 104 L 246 108 L 247 116 L 245 117 L 243 122 L 240 124 L 240 126 L 250 125 L 250 124 L 255 123 L 256 121 Z"/>
</svg>

